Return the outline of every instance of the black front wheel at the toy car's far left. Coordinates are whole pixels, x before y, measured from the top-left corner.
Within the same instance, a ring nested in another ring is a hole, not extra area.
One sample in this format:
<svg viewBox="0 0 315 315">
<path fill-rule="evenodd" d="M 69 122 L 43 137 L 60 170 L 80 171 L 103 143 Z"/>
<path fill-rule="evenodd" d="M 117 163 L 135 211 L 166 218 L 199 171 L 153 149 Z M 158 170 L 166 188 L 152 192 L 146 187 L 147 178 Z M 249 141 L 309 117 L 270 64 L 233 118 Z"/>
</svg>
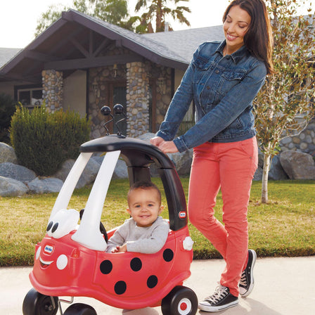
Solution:
<svg viewBox="0 0 315 315">
<path fill-rule="evenodd" d="M 34 288 L 28 291 L 23 301 L 23 315 L 56 315 L 58 297 L 43 295 Z"/>
</svg>

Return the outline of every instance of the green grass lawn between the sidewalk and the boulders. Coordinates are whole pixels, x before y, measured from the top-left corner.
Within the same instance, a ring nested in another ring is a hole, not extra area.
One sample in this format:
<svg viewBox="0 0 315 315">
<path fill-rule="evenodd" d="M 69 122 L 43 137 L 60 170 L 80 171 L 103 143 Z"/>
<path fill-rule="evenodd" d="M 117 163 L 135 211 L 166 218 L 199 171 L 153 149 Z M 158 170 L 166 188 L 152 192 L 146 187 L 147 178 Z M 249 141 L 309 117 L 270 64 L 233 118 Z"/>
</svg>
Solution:
<svg viewBox="0 0 315 315">
<path fill-rule="evenodd" d="M 160 179 L 153 179 L 162 191 Z M 187 196 L 188 179 L 181 182 Z M 107 230 L 122 224 L 126 212 L 127 180 L 110 184 L 102 222 Z M 248 221 L 250 248 L 259 257 L 315 255 L 315 181 L 269 181 L 269 204 L 260 203 L 261 183 L 252 186 Z M 70 207 L 82 209 L 89 195 L 88 188 L 76 190 Z M 0 198 L 0 266 L 32 265 L 35 244 L 44 237 L 46 225 L 57 194 L 26 195 Z M 166 206 L 162 191 L 162 203 Z M 221 195 L 217 198 L 216 217 L 221 220 Z M 167 208 L 167 207 L 165 207 Z M 167 210 L 162 213 L 168 217 Z M 195 259 L 218 258 L 219 253 L 189 225 Z"/>
</svg>

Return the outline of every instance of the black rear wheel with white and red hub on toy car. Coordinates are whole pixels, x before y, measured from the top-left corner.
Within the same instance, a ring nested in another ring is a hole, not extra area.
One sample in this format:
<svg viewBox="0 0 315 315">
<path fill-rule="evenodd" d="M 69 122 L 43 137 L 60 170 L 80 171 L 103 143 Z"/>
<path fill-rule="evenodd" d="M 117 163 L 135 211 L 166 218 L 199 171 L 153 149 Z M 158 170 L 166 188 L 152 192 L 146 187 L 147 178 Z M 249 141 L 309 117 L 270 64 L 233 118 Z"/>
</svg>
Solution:
<svg viewBox="0 0 315 315">
<path fill-rule="evenodd" d="M 193 290 L 184 286 L 176 286 L 161 304 L 163 315 L 195 315 L 198 299 Z"/>
</svg>

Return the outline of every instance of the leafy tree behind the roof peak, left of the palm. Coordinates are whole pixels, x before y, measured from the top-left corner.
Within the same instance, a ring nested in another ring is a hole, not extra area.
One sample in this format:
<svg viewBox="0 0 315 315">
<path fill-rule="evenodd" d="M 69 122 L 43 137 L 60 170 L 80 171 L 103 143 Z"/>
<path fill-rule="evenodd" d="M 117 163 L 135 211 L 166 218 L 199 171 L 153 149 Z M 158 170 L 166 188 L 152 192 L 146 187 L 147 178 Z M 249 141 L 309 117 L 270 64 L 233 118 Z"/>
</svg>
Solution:
<svg viewBox="0 0 315 315">
<path fill-rule="evenodd" d="M 140 19 L 136 16 L 129 16 L 127 0 L 74 0 L 72 8 L 128 30 L 134 30 L 134 24 Z M 69 7 L 60 4 L 49 6 L 48 11 L 41 13 L 41 17 L 37 21 L 35 37 L 56 22 L 63 11 L 68 10 Z"/>
</svg>

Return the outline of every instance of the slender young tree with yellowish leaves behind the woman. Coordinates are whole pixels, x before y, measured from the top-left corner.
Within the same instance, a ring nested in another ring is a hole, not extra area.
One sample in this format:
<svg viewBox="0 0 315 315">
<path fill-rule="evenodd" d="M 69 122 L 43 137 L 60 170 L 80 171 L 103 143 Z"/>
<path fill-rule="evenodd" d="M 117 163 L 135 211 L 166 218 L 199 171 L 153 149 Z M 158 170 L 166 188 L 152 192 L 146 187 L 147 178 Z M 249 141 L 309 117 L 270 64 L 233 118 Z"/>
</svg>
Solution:
<svg viewBox="0 0 315 315">
<path fill-rule="evenodd" d="M 309 15 L 297 16 L 309 3 Z M 314 117 L 315 34 L 311 3 L 299 0 L 266 1 L 274 32 L 274 74 L 254 102 L 257 138 L 264 154 L 262 203 L 268 203 L 271 159 L 285 136 L 301 132 Z"/>
</svg>

